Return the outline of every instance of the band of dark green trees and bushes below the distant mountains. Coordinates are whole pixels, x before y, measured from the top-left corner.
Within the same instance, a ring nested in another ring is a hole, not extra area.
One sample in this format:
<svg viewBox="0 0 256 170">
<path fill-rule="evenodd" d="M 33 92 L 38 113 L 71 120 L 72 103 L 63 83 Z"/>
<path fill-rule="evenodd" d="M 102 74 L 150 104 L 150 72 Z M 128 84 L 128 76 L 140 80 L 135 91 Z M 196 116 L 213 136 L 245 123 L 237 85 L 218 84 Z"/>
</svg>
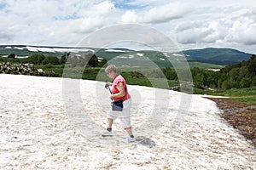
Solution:
<svg viewBox="0 0 256 170">
<path fill-rule="evenodd" d="M 44 54 L 32 54 L 28 58 L 15 58 L 15 54 L 9 54 L 8 57 L 0 57 L 0 63 L 13 63 L 13 64 L 34 64 L 37 69 L 43 69 L 44 71 L 51 71 L 55 74 L 51 76 L 62 77 L 64 67 L 83 67 L 84 79 L 96 80 L 96 76 L 99 71 L 102 71 L 102 67 L 107 65 L 107 59 L 98 59 L 96 54 L 86 54 L 84 57 L 73 56 L 69 57 L 69 54 L 63 54 L 60 57 L 56 56 L 44 56 Z M 178 77 L 174 68 L 172 67 L 160 67 L 162 73 L 166 79 L 172 83 L 170 86 L 177 86 Z M 182 69 L 182 68 L 180 68 Z M 193 77 L 194 88 L 201 89 L 230 89 L 230 88 L 249 88 L 256 86 L 256 57 L 253 54 L 251 59 L 242 61 L 236 65 L 228 65 L 222 68 L 220 71 L 209 71 L 202 68 L 192 67 L 190 68 Z M 147 74 L 141 74 L 136 71 L 122 72 L 127 78 L 127 82 L 131 84 L 151 86 L 148 82 L 148 77 L 152 78 L 165 78 L 162 74 L 154 71 L 154 69 L 148 69 Z"/>
</svg>

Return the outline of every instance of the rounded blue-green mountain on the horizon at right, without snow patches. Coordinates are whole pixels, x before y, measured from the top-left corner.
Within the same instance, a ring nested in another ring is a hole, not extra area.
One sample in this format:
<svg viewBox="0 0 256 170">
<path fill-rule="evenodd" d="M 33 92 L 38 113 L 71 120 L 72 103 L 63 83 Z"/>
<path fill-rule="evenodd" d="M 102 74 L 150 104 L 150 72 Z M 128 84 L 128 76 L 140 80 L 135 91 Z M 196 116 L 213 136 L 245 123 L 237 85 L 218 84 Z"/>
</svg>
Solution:
<svg viewBox="0 0 256 170">
<path fill-rule="evenodd" d="M 183 51 L 189 61 L 211 63 L 215 65 L 234 65 L 242 60 L 248 60 L 252 54 L 247 54 L 231 48 L 203 48 Z"/>
</svg>

